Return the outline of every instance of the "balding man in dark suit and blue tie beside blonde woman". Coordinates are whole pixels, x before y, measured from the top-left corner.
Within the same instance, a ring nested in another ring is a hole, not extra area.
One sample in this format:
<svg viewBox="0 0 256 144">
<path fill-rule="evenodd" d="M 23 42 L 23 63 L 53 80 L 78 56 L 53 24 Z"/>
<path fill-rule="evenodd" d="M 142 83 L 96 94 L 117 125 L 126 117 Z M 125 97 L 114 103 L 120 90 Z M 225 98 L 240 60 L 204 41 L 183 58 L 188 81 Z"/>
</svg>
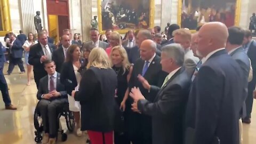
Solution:
<svg viewBox="0 0 256 144">
<path fill-rule="evenodd" d="M 146 30 L 147 31 L 147 30 Z M 148 31 L 149 32 L 149 31 Z M 140 32 L 139 32 L 140 33 Z M 138 34 L 139 35 L 139 34 Z M 156 95 L 150 95 L 148 90 L 144 89 L 139 82 L 138 75 L 142 75 L 150 85 L 162 86 L 167 73 L 162 71 L 160 64 L 161 59 L 156 55 L 156 43 L 150 39 L 146 39 L 140 45 L 139 58 L 133 66 L 129 82 L 129 90 L 132 87 L 139 87 L 145 98 L 153 102 Z M 131 111 L 131 103 L 133 100 L 127 100 L 127 122 L 129 123 L 128 135 L 132 143 L 151 143 L 151 118 L 150 116 L 141 115 Z"/>
</svg>

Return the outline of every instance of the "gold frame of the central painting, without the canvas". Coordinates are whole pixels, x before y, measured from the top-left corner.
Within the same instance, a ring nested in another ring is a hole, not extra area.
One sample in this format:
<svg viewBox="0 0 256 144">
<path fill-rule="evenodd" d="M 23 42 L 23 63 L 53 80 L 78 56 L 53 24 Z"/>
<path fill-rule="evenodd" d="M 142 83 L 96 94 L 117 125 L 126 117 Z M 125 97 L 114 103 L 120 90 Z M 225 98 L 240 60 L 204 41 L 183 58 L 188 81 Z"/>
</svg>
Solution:
<svg viewBox="0 0 256 144">
<path fill-rule="evenodd" d="M 102 29 L 101 1 L 102 0 L 98 0 L 98 21 L 99 21 L 98 29 L 99 29 L 100 34 L 105 34 L 106 30 Z M 148 1 L 149 1 L 149 28 L 153 28 L 154 27 L 154 17 L 155 17 L 155 15 L 154 15 L 155 14 L 155 0 L 148 0 Z M 129 28 L 118 29 L 115 31 L 117 31 L 119 34 L 125 34 L 128 30 L 129 30 Z M 135 30 L 138 30 L 138 29 L 135 29 Z"/>
</svg>

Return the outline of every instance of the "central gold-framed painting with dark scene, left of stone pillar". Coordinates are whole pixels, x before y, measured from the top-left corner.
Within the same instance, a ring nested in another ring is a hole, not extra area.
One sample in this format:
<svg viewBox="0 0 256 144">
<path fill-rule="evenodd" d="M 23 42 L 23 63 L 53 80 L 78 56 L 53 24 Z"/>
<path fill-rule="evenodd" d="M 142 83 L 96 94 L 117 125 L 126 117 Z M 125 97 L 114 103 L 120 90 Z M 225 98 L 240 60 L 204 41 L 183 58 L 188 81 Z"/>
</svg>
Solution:
<svg viewBox="0 0 256 144">
<path fill-rule="evenodd" d="M 98 0 L 99 31 L 125 34 L 129 29 L 154 27 L 154 7 L 154 0 Z"/>
</svg>

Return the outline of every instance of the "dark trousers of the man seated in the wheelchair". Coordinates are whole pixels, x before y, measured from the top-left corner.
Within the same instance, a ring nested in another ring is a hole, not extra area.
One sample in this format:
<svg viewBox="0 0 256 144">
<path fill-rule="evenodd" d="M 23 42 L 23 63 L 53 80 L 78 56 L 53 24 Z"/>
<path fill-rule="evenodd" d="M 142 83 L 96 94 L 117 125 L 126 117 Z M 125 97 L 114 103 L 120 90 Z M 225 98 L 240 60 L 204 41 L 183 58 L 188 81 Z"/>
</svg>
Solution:
<svg viewBox="0 0 256 144">
<path fill-rule="evenodd" d="M 65 99 L 45 100 L 38 102 L 37 108 L 42 116 L 44 132 L 49 133 L 50 138 L 56 138 L 58 134 L 58 114 L 62 110 Z"/>
</svg>

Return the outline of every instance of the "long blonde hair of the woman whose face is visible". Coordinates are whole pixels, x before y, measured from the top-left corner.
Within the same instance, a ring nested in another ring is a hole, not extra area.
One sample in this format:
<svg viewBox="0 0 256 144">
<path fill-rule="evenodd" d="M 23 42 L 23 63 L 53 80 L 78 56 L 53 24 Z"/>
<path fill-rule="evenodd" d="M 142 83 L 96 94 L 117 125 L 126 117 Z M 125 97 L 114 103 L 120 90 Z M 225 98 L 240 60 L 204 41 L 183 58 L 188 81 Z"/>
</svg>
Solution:
<svg viewBox="0 0 256 144">
<path fill-rule="evenodd" d="M 123 58 L 123 61 L 122 61 L 122 68 L 123 68 L 124 73 L 125 73 L 125 69 L 129 70 L 130 67 L 131 67 L 131 63 L 130 63 L 129 60 L 128 60 L 127 52 L 126 52 L 126 50 L 124 49 L 124 47 L 122 47 L 122 46 L 115 46 L 115 47 L 113 47 L 112 50 L 111 50 L 110 57 L 111 57 L 113 51 L 115 51 L 115 50 L 118 50 L 119 53 L 120 53 L 120 55 L 121 55 L 121 57 Z M 113 67 L 112 59 L 111 59 L 111 66 Z M 123 74 L 124 74 L 124 73 L 123 73 Z"/>
</svg>

